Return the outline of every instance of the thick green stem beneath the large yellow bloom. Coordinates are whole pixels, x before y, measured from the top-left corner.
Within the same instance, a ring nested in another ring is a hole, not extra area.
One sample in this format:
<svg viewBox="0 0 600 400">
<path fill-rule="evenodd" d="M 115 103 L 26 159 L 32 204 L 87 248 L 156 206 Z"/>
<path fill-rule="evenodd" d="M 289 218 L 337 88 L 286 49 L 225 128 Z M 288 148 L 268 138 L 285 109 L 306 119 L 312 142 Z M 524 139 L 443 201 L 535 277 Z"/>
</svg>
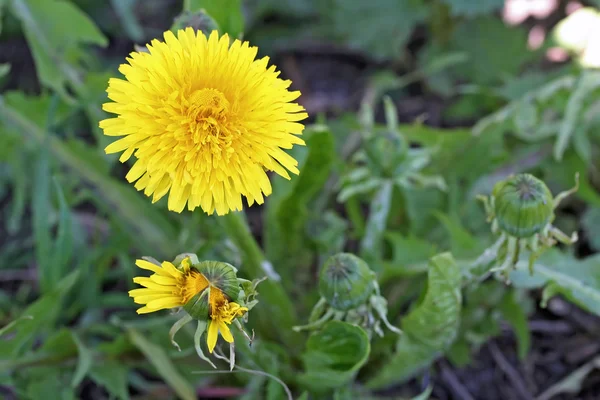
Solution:
<svg viewBox="0 0 600 400">
<path fill-rule="evenodd" d="M 279 276 L 272 271 L 270 263 L 266 260 L 262 249 L 250 232 L 248 222 L 243 212 L 230 212 L 218 220 L 222 223 L 229 238 L 235 243 L 242 253 L 243 261 L 240 272 L 247 278 L 255 279 L 267 275 L 268 279 L 258 286 L 258 307 L 253 311 L 258 316 L 258 330 L 261 335 L 278 338 L 283 343 L 292 344 L 301 339 L 300 335 L 292 332 L 296 324 L 294 305 L 288 293 L 279 281 Z M 290 349 L 300 346 L 290 347 Z"/>
</svg>

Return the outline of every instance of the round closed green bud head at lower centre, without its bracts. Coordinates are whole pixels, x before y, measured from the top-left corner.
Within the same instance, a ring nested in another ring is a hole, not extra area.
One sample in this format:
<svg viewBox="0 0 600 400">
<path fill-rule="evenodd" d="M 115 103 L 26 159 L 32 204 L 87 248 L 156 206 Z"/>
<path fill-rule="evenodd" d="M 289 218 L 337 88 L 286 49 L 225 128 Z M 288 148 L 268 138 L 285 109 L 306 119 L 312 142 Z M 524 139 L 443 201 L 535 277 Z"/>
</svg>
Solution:
<svg viewBox="0 0 600 400">
<path fill-rule="evenodd" d="M 319 292 L 329 305 L 347 311 L 373 294 L 375 276 L 366 262 L 349 253 L 330 257 L 319 275 Z"/>
</svg>

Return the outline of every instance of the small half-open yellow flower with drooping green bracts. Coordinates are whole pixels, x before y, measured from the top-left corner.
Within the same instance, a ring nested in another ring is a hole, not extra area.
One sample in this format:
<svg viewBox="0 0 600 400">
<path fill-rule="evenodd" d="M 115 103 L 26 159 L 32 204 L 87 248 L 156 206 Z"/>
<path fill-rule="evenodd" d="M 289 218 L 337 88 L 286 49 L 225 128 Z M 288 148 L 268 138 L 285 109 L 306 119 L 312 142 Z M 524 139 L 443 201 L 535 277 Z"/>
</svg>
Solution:
<svg viewBox="0 0 600 400">
<path fill-rule="evenodd" d="M 173 263 L 137 260 L 136 265 L 154 272 L 148 278 L 133 279 L 143 286 L 129 291 L 133 301 L 143 305 L 137 310 L 138 314 L 183 308 L 185 315 L 171 328 L 171 342 L 179 347 L 174 341 L 175 334 L 186 323 L 197 320 L 194 340 L 198 355 L 212 364 L 202 353 L 200 338 L 206 332 L 206 344 L 213 353 L 221 334 L 231 345 L 230 360 L 233 363 L 234 340 L 230 325 L 235 324 L 245 334 L 238 319 L 257 303 L 254 297 L 259 281 L 239 279 L 233 266 L 217 261 L 199 262 L 195 255 L 188 253 L 178 256 Z"/>
</svg>

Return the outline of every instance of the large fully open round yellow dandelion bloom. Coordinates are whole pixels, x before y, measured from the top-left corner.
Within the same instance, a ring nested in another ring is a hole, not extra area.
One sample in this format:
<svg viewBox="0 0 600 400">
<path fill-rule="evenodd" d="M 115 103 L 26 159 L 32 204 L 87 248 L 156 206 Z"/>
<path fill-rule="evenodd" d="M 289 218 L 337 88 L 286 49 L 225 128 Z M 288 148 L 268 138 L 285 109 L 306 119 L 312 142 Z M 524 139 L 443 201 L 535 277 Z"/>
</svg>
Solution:
<svg viewBox="0 0 600 400">
<path fill-rule="evenodd" d="M 100 122 L 104 134 L 124 136 L 106 147 L 137 161 L 127 174 L 156 202 L 169 193 L 168 207 L 181 212 L 200 206 L 223 215 L 262 204 L 271 193 L 266 171 L 289 179 L 297 161 L 283 149 L 304 142 L 307 117 L 293 103 L 298 91 L 280 79 L 268 57 L 255 60 L 256 47 L 191 28 L 177 37 L 164 33 L 147 52 L 131 53 L 110 79 L 104 110 L 118 114 Z"/>
</svg>

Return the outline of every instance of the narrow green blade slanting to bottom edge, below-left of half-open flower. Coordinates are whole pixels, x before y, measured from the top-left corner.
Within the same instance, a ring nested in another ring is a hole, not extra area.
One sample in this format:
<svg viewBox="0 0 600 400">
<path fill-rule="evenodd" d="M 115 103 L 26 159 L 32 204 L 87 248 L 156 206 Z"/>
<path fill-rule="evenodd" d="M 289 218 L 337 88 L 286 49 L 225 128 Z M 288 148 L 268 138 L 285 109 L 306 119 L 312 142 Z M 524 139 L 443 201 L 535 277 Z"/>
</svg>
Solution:
<svg viewBox="0 0 600 400">
<path fill-rule="evenodd" d="M 159 375 L 183 400 L 195 400 L 196 392 L 188 381 L 177 370 L 164 349 L 150 342 L 146 337 L 133 328 L 127 330 L 129 339 L 156 368 Z"/>
</svg>

